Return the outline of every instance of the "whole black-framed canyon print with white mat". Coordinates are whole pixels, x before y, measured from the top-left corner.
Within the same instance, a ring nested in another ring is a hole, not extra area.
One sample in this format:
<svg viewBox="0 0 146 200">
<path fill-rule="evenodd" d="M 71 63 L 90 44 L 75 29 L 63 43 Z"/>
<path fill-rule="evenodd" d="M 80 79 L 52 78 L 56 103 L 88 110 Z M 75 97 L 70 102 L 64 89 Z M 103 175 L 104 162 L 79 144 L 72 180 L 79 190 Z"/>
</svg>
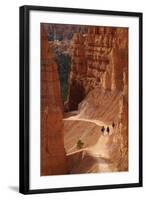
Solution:
<svg viewBox="0 0 146 200">
<path fill-rule="evenodd" d="M 142 13 L 20 7 L 20 192 L 142 186 Z"/>
</svg>

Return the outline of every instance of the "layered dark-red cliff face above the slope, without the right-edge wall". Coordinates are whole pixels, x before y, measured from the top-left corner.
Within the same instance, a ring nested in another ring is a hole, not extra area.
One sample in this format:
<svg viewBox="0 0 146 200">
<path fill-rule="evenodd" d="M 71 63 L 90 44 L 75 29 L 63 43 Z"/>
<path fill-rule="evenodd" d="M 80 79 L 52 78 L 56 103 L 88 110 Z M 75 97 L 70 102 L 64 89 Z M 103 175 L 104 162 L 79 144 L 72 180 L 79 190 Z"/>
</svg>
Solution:
<svg viewBox="0 0 146 200">
<path fill-rule="evenodd" d="M 111 89 L 111 51 L 115 33 L 115 28 L 90 27 L 85 34 L 74 34 L 68 98 L 70 110 L 76 110 L 78 103 L 97 86 Z"/>
</svg>

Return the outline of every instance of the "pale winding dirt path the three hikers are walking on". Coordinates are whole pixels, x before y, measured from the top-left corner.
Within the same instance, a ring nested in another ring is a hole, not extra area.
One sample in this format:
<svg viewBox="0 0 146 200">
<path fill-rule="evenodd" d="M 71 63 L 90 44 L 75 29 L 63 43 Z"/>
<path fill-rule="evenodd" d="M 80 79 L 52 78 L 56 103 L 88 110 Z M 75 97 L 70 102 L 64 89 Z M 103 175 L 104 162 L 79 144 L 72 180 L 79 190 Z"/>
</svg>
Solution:
<svg viewBox="0 0 146 200">
<path fill-rule="evenodd" d="M 110 160 L 109 147 L 107 146 L 109 139 L 111 139 L 112 135 L 114 134 L 113 127 L 99 120 L 79 118 L 79 115 L 64 118 L 64 121 L 70 121 L 70 120 L 94 123 L 97 126 L 101 126 L 101 127 L 104 126 L 105 130 L 107 127 L 110 128 L 110 133 L 107 133 L 106 131 L 104 131 L 105 132 L 104 134 L 99 133 L 101 135 L 95 145 L 92 145 L 90 147 L 84 148 L 79 151 L 74 151 L 71 154 L 68 154 L 68 156 L 74 155 L 75 160 L 76 160 L 76 156 L 78 154 L 81 154 L 80 164 L 76 168 L 77 163 L 74 163 L 73 172 L 77 173 L 80 170 L 82 172 L 85 171 L 87 173 L 117 171 L 114 163 L 112 163 L 112 161 Z M 94 160 L 94 162 L 92 162 L 91 166 L 88 167 L 88 169 L 85 162 L 87 157 L 88 159 L 90 158 Z"/>
</svg>

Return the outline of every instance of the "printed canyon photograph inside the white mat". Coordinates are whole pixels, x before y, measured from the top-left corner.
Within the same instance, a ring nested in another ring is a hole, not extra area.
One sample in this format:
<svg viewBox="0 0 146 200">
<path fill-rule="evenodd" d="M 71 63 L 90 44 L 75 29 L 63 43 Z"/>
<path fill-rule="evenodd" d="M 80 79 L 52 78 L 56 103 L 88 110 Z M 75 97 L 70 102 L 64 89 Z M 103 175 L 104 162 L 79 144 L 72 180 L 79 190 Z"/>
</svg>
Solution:
<svg viewBox="0 0 146 200">
<path fill-rule="evenodd" d="M 41 31 L 42 175 L 127 171 L 128 29 Z"/>
</svg>

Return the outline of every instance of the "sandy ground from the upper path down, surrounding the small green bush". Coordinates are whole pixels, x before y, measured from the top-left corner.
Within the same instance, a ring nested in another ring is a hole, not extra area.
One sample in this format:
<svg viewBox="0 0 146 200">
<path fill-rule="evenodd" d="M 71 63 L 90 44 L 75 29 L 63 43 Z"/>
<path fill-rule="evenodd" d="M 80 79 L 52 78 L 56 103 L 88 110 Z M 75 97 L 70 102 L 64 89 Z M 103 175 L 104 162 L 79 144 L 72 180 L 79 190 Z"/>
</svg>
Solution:
<svg viewBox="0 0 146 200">
<path fill-rule="evenodd" d="M 110 133 L 101 132 L 101 127 L 110 128 Z M 64 118 L 65 148 L 68 157 L 70 173 L 94 173 L 117 171 L 110 160 L 109 141 L 114 128 L 110 124 L 95 119 L 80 118 L 80 115 L 68 113 Z M 84 142 L 84 147 L 77 149 L 77 140 Z"/>
</svg>

